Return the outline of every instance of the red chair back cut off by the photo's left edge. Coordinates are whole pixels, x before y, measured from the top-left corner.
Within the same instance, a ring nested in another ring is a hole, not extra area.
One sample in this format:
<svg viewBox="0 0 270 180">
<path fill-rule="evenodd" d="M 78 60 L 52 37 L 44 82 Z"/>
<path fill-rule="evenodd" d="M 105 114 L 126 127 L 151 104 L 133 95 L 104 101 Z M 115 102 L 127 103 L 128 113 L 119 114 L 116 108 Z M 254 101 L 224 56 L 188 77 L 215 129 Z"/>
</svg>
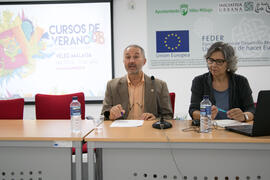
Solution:
<svg viewBox="0 0 270 180">
<path fill-rule="evenodd" d="M 23 119 L 24 99 L 0 100 L 0 119 Z"/>
</svg>

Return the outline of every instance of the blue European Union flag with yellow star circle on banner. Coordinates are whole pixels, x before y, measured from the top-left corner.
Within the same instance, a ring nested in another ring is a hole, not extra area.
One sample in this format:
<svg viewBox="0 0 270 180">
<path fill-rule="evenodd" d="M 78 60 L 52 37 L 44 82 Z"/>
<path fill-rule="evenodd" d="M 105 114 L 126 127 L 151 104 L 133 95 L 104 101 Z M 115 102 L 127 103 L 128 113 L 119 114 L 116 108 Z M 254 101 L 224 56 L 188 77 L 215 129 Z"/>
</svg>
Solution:
<svg viewBox="0 0 270 180">
<path fill-rule="evenodd" d="M 189 52 L 188 31 L 157 31 L 157 52 Z"/>
</svg>

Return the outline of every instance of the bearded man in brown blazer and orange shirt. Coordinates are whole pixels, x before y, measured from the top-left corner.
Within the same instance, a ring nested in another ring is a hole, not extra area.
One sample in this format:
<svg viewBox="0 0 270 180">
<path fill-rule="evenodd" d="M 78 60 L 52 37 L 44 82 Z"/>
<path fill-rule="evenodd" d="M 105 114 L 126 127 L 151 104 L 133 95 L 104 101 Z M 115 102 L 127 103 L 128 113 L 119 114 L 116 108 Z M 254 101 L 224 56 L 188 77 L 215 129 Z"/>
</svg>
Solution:
<svg viewBox="0 0 270 180">
<path fill-rule="evenodd" d="M 144 49 L 129 45 L 124 50 L 127 75 L 107 83 L 101 114 L 107 119 L 172 119 L 167 84 L 142 71 L 146 63 Z"/>
</svg>

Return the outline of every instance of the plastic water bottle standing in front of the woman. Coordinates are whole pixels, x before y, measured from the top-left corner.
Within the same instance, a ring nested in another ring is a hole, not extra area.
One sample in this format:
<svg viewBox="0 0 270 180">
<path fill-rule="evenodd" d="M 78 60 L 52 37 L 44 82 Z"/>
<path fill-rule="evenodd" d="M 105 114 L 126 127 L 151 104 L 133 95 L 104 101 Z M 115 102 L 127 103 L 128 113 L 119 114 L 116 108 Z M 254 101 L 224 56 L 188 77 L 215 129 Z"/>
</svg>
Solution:
<svg viewBox="0 0 270 180">
<path fill-rule="evenodd" d="M 200 132 L 211 132 L 211 107 L 212 103 L 209 100 L 208 95 L 203 96 L 203 100 L 200 104 Z"/>
</svg>

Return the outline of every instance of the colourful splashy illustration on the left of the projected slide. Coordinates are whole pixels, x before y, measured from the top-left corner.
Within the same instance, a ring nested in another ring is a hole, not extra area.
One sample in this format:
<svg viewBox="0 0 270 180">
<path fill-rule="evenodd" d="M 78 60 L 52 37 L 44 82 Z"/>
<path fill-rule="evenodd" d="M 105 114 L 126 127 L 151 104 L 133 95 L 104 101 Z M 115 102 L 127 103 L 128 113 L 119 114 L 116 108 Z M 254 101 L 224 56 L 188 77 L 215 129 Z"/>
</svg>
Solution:
<svg viewBox="0 0 270 180">
<path fill-rule="evenodd" d="M 40 27 L 35 27 L 24 15 L 14 17 L 9 11 L 3 11 L 0 17 L 0 96 L 8 98 L 5 89 L 10 78 L 24 78 L 35 70 L 36 58 L 44 58 L 45 39 L 48 34 Z M 35 58 L 35 60 L 33 59 Z"/>
</svg>

